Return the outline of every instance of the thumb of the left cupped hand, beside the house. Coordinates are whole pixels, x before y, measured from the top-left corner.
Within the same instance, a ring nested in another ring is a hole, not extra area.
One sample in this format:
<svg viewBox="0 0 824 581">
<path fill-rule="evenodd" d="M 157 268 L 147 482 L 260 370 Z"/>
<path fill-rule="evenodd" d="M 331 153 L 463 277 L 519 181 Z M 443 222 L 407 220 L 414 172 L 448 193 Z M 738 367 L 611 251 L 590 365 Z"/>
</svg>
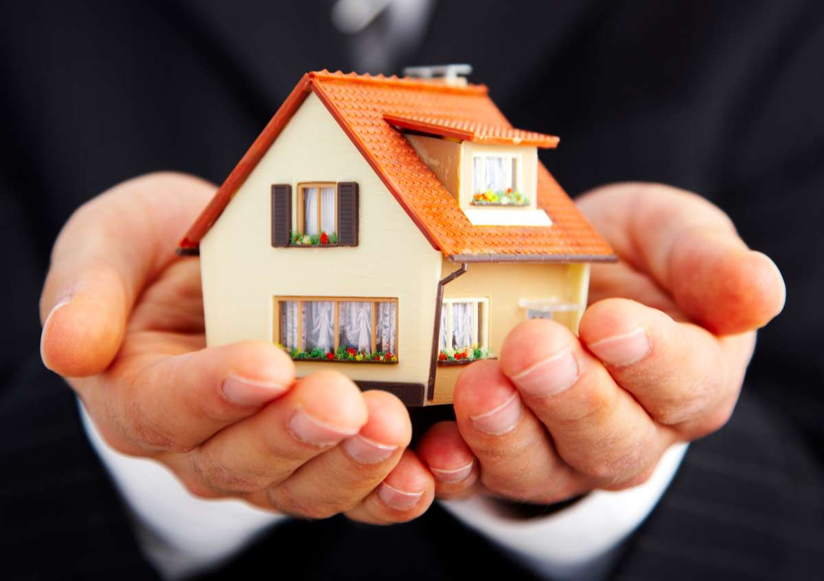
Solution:
<svg viewBox="0 0 824 581">
<path fill-rule="evenodd" d="M 54 244 L 40 297 L 44 365 L 80 377 L 110 364 L 135 298 L 175 258 L 180 224 L 213 192 L 212 184 L 183 174 L 149 174 L 73 214 Z"/>
</svg>

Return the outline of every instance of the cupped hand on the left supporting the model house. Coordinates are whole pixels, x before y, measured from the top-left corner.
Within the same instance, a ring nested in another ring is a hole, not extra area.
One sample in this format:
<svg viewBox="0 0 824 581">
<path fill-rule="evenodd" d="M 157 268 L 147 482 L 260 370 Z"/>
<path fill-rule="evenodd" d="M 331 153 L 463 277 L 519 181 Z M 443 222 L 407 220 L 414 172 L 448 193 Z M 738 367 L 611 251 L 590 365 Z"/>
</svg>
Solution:
<svg viewBox="0 0 824 581">
<path fill-rule="evenodd" d="M 40 300 L 44 364 L 110 446 L 162 462 L 194 495 L 307 518 L 422 514 L 434 485 L 406 449 L 400 400 L 330 371 L 296 380 L 269 342 L 205 346 L 199 259 L 174 251 L 213 193 L 149 174 L 74 213 Z"/>
</svg>

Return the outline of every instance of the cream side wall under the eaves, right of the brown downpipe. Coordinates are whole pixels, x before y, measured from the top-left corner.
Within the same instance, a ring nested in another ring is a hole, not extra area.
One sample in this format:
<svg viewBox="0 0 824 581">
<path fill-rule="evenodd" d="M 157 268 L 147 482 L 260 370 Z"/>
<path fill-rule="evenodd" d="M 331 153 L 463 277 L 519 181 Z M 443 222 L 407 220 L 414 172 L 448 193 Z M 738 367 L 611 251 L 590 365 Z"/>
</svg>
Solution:
<svg viewBox="0 0 824 581">
<path fill-rule="evenodd" d="M 444 260 L 442 277 L 458 266 Z M 443 287 L 443 296 L 489 299 L 489 349 L 498 356 L 508 333 L 527 320 L 527 311 L 518 306 L 519 300 L 555 298 L 560 302 L 587 304 L 588 284 L 588 264 L 471 263 L 465 274 Z M 563 314 L 556 320 L 578 332 L 580 313 Z M 432 403 L 452 401 L 455 381 L 463 368 L 462 365 L 438 366 Z"/>
</svg>

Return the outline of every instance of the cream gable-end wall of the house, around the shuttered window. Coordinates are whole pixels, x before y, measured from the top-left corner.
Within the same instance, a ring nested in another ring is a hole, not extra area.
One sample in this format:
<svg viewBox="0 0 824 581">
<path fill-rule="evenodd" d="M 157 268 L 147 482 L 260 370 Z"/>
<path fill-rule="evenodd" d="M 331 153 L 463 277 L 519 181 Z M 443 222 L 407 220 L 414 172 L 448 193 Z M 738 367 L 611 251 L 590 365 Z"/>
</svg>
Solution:
<svg viewBox="0 0 824 581">
<path fill-rule="evenodd" d="M 354 248 L 279 248 L 270 242 L 271 185 L 354 181 Z M 277 342 L 274 296 L 398 299 L 397 365 L 297 362 L 298 375 L 335 369 L 353 379 L 426 383 L 442 255 L 420 233 L 316 95 L 311 94 L 200 243 L 208 345 Z"/>
</svg>

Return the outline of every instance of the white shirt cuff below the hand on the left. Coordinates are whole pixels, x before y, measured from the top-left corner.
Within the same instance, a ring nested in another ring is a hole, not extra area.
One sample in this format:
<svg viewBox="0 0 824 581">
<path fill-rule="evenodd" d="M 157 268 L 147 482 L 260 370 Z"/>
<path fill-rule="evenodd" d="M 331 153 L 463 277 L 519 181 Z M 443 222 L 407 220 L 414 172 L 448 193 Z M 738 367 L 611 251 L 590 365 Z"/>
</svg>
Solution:
<svg viewBox="0 0 824 581">
<path fill-rule="evenodd" d="M 183 579 L 219 565 L 287 518 L 242 500 L 190 495 L 160 462 L 110 448 L 79 400 L 78 407 L 92 447 L 132 512 L 143 554 L 164 579 Z"/>
</svg>

